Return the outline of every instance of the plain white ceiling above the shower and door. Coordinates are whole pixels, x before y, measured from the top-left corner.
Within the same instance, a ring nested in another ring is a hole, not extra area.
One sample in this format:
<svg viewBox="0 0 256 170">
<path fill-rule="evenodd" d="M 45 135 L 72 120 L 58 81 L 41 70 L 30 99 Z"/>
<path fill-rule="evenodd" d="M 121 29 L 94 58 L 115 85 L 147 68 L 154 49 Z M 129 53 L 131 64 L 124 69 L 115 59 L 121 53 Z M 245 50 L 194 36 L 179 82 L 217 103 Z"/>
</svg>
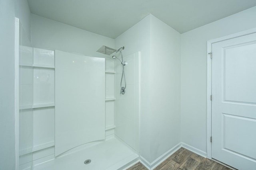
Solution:
<svg viewBox="0 0 256 170">
<path fill-rule="evenodd" d="M 180 33 L 256 6 L 256 0 L 28 0 L 33 14 L 116 38 L 152 14 Z"/>
</svg>

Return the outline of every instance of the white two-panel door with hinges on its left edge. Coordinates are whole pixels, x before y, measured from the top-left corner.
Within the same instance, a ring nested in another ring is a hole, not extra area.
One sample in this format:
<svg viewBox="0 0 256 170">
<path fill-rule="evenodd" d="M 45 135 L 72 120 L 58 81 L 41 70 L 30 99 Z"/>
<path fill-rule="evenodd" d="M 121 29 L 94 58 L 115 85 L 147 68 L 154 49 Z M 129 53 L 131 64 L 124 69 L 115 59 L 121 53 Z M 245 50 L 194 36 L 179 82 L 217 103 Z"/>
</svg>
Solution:
<svg viewBox="0 0 256 170">
<path fill-rule="evenodd" d="M 212 44 L 212 158 L 256 169 L 256 33 Z"/>
</svg>

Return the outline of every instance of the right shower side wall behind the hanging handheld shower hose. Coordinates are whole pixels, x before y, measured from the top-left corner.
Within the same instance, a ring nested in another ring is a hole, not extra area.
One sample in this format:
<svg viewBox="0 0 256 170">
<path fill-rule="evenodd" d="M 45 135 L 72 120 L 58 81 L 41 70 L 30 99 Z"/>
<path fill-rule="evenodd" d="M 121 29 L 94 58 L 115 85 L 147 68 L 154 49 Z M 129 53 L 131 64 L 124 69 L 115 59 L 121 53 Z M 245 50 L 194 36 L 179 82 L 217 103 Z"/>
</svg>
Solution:
<svg viewBox="0 0 256 170">
<path fill-rule="evenodd" d="M 126 76 L 126 93 L 120 94 L 122 64 L 116 61 L 116 115 L 115 135 L 130 147 L 139 151 L 139 61 L 140 53 L 124 57 L 128 64 L 124 66 Z M 124 85 L 124 82 L 122 82 Z"/>
</svg>

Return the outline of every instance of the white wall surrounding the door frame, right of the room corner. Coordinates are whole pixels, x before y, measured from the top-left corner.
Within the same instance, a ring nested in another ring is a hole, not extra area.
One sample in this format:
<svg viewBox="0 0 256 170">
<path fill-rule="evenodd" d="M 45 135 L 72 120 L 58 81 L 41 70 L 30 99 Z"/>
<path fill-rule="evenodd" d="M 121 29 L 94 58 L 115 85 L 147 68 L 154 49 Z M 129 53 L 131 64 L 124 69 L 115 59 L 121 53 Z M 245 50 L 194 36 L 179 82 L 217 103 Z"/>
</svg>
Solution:
<svg viewBox="0 0 256 170">
<path fill-rule="evenodd" d="M 256 7 L 181 35 L 182 142 L 206 152 L 206 42 L 254 27 Z"/>
</svg>

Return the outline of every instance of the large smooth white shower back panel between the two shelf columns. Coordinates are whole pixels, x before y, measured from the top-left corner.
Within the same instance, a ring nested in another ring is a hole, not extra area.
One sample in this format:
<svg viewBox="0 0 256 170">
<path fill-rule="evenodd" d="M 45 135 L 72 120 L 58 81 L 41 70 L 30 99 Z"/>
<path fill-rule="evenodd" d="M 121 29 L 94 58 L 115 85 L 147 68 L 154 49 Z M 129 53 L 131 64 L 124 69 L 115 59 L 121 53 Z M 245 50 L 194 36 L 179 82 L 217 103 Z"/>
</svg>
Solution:
<svg viewBox="0 0 256 170">
<path fill-rule="evenodd" d="M 105 139 L 105 59 L 56 51 L 55 156 Z"/>
</svg>

